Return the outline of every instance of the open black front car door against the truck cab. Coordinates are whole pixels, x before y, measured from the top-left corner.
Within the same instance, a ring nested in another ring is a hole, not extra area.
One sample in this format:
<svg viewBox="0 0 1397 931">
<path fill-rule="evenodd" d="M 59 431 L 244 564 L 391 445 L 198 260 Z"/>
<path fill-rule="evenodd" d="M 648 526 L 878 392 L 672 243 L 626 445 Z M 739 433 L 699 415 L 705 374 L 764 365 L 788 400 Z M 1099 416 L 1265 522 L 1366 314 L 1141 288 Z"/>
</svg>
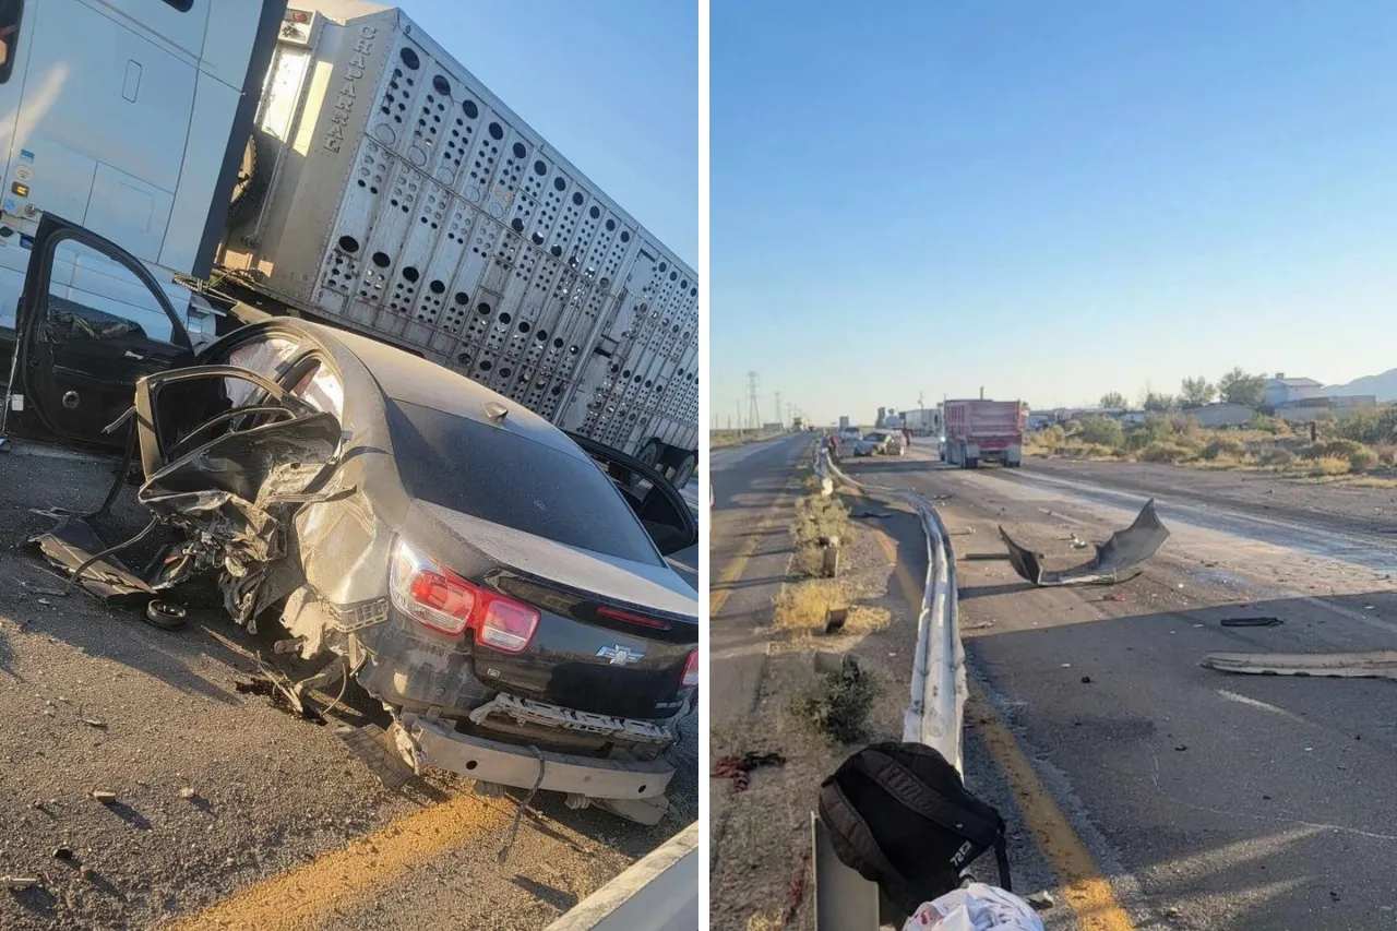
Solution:
<svg viewBox="0 0 1397 931">
<path fill-rule="evenodd" d="M 194 361 L 189 331 L 140 259 L 45 214 L 34 238 L 8 386 L 61 440 L 120 446 L 103 428 L 131 407 L 136 382 Z M 15 404 L 14 407 L 18 407 Z"/>
</svg>

